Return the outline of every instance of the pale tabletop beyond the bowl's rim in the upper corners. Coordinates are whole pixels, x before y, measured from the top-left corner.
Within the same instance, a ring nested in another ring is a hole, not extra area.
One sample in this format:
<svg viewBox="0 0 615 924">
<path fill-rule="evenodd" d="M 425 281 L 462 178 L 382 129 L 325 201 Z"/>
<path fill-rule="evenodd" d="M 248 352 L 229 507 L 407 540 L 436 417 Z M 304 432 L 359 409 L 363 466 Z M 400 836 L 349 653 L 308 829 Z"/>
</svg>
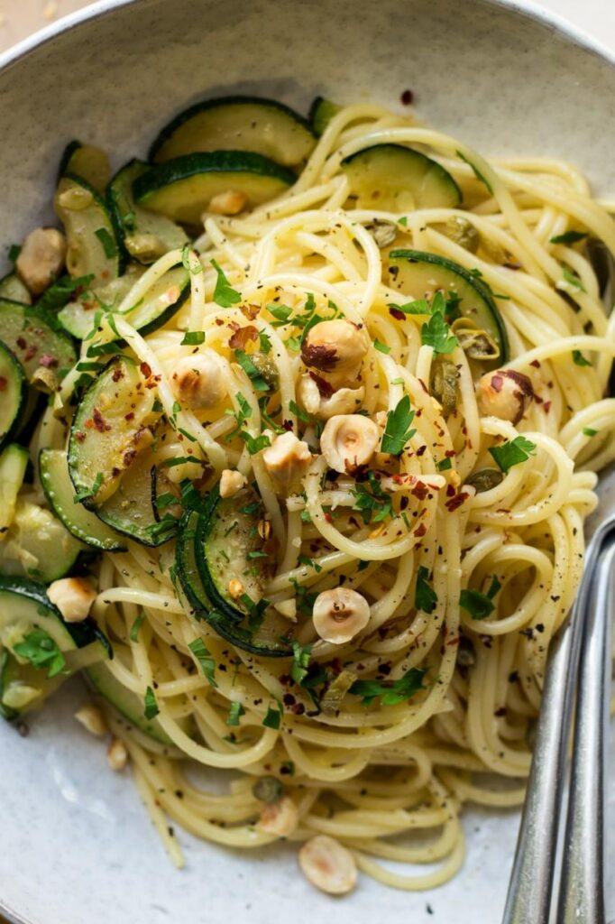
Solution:
<svg viewBox="0 0 615 924">
<path fill-rule="evenodd" d="M 173 0 L 168 0 L 172 3 Z M 523 0 L 520 0 L 523 5 Z M 89 0 L 0 0 L 0 52 L 84 6 Z M 615 51 L 614 0 L 540 0 L 542 6 Z M 8 924 L 0 918 L 0 924 Z"/>
</svg>

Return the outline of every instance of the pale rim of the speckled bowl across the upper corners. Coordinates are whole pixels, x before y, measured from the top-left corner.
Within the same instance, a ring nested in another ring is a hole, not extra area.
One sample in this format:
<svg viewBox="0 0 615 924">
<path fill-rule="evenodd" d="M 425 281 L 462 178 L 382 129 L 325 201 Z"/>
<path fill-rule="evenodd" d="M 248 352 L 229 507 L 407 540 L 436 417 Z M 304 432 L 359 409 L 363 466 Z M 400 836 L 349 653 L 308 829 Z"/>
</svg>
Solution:
<svg viewBox="0 0 615 924">
<path fill-rule="evenodd" d="M 138 2 L 139 0 L 97 0 L 90 6 L 55 20 L 50 25 L 33 32 L 28 38 L 0 53 L 0 73 L 9 67 L 17 65 L 19 61 L 36 52 L 43 45 L 53 42 L 55 38 L 64 32 L 77 29 L 90 20 L 103 18 L 103 16 L 124 6 L 134 6 Z M 611 51 L 607 45 L 599 42 L 585 32 L 584 29 L 576 26 L 559 13 L 539 6 L 535 0 L 475 0 L 475 2 L 483 6 L 494 6 L 503 10 L 510 10 L 521 18 L 531 19 L 533 22 L 547 26 L 553 32 L 563 35 L 573 45 L 585 49 L 585 51 L 615 67 L 615 50 Z M 6 906 L 1 896 L 0 915 L 4 915 L 7 921 L 12 921 L 14 924 L 32 924 L 29 918 L 23 918 L 16 910 Z"/>
</svg>

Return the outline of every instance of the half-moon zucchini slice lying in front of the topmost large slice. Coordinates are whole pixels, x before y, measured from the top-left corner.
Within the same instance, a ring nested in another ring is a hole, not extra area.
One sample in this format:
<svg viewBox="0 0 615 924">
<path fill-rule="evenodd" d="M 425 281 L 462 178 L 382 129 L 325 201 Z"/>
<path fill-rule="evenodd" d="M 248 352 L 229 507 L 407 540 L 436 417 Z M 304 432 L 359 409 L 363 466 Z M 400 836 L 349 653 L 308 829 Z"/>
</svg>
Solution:
<svg viewBox="0 0 615 924">
<path fill-rule="evenodd" d="M 212 151 L 187 154 L 151 167 L 134 183 L 135 200 L 183 225 L 199 225 L 214 196 L 243 192 L 247 208 L 279 196 L 295 174 L 261 154 Z"/>
</svg>

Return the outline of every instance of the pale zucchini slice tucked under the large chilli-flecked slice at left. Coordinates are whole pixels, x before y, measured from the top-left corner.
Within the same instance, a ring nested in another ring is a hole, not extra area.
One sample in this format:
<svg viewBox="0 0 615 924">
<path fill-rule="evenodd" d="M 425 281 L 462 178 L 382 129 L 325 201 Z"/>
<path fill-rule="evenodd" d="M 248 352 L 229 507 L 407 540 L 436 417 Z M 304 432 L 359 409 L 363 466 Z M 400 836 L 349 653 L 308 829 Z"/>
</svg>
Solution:
<svg viewBox="0 0 615 924">
<path fill-rule="evenodd" d="M 68 474 L 64 450 L 42 449 L 39 473 L 42 490 L 55 516 L 62 520 L 76 539 L 105 552 L 126 551 L 126 542 L 122 541 L 115 529 L 110 529 L 82 504 L 75 503 L 75 488 Z"/>
</svg>

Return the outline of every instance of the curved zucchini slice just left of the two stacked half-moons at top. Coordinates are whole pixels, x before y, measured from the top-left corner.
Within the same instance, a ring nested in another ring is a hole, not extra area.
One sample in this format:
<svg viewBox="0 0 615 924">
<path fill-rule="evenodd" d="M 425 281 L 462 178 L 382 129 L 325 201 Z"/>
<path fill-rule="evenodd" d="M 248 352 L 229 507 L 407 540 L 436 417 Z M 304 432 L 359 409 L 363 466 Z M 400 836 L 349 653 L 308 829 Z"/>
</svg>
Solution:
<svg viewBox="0 0 615 924">
<path fill-rule="evenodd" d="M 153 263 L 169 250 L 181 249 L 188 243 L 182 227 L 164 215 L 142 209 L 135 202 L 132 184 L 149 169 L 150 164 L 130 161 L 115 174 L 107 194 L 117 237 L 124 242 L 131 257 L 145 264 Z"/>
</svg>

